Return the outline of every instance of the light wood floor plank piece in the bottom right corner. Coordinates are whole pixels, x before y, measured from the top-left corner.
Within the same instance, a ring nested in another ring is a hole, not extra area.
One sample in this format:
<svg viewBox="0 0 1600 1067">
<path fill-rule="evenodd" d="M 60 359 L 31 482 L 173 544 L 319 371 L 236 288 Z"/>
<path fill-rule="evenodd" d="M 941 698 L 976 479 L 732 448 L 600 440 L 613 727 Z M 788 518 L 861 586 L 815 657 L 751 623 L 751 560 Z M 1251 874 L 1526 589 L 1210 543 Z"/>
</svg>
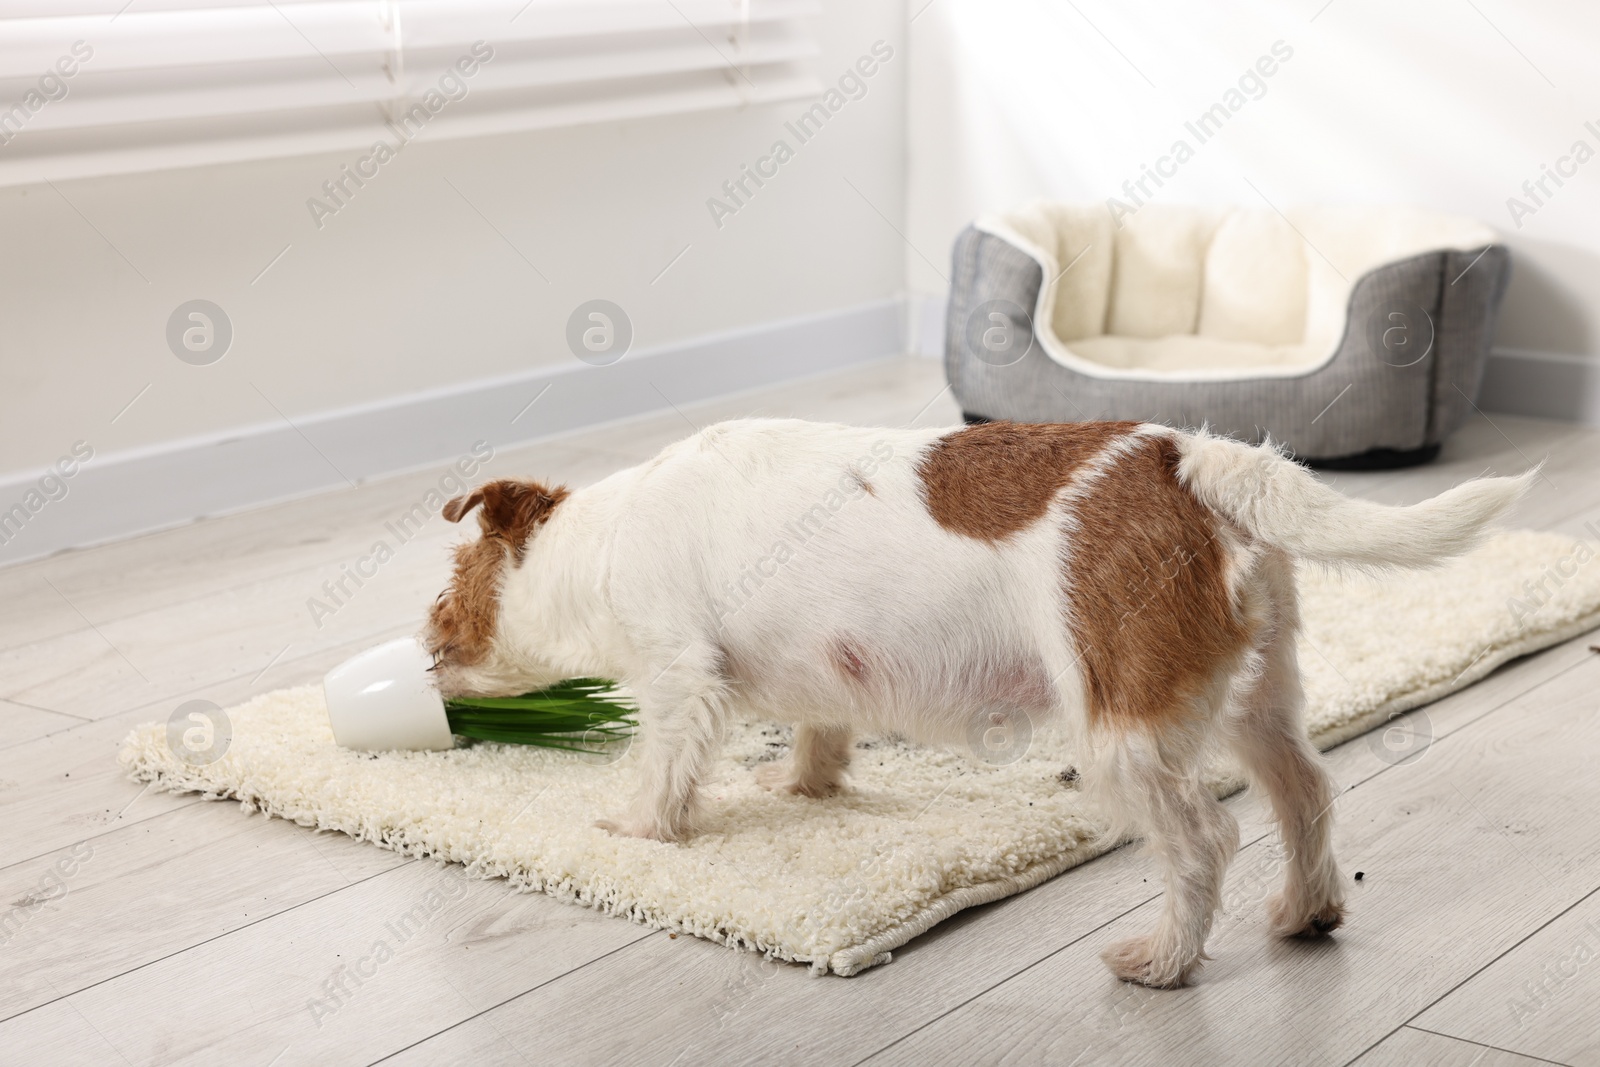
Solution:
<svg viewBox="0 0 1600 1067">
<path fill-rule="evenodd" d="M 1424 1011 L 1416 1025 L 1526 1056 L 1600 1064 L 1595 1005 L 1600 891 Z"/>
</svg>

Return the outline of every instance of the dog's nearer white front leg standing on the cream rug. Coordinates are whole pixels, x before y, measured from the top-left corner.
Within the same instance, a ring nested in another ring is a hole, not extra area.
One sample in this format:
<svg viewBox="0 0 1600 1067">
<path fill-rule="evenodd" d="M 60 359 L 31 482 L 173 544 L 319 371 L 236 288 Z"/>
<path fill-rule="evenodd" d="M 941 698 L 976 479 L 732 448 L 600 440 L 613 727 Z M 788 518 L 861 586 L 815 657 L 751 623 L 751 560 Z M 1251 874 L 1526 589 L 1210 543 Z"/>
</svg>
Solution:
<svg viewBox="0 0 1600 1067">
<path fill-rule="evenodd" d="M 667 667 L 638 697 L 645 758 L 627 814 L 595 825 L 611 833 L 677 841 L 693 835 L 699 784 L 722 747 L 723 685 L 688 665 Z"/>
</svg>

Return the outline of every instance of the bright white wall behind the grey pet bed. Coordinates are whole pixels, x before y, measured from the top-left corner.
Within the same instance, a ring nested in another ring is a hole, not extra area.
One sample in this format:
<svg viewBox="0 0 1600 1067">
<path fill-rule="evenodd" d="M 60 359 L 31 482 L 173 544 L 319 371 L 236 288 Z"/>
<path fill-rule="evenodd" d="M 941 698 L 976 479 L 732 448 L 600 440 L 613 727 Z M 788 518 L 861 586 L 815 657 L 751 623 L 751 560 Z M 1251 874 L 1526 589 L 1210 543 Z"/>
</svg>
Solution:
<svg viewBox="0 0 1600 1067">
<path fill-rule="evenodd" d="M 1498 346 L 1600 354 L 1600 158 L 1522 227 L 1506 205 L 1574 141 L 1600 152 L 1594 5 L 934 0 L 912 21 L 912 291 L 942 296 L 950 242 L 976 214 L 1123 195 L 1278 40 L 1293 58 L 1264 96 L 1157 198 L 1483 219 L 1514 259 Z"/>
</svg>

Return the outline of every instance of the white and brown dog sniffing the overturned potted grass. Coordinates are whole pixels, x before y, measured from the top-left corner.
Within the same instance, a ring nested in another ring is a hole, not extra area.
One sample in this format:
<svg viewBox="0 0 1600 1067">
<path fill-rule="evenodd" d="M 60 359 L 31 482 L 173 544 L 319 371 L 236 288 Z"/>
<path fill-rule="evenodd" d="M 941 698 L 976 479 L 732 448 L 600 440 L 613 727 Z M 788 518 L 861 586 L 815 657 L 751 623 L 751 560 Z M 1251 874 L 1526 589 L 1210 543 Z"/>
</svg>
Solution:
<svg viewBox="0 0 1600 1067">
<path fill-rule="evenodd" d="M 694 833 L 733 717 L 794 725 L 765 784 L 843 787 L 856 734 L 949 744 L 1066 723 L 1082 782 L 1163 865 L 1155 929 L 1106 950 L 1176 987 L 1205 958 L 1234 816 L 1232 753 L 1286 848 L 1272 931 L 1344 920 L 1334 787 L 1301 721 L 1294 561 L 1421 568 L 1472 549 L 1533 472 L 1411 507 L 1346 498 L 1270 446 L 1136 422 L 712 426 L 589 488 L 499 480 L 451 499 L 456 549 L 422 643 L 446 696 L 618 678 L 642 782 L 598 825 Z"/>
</svg>

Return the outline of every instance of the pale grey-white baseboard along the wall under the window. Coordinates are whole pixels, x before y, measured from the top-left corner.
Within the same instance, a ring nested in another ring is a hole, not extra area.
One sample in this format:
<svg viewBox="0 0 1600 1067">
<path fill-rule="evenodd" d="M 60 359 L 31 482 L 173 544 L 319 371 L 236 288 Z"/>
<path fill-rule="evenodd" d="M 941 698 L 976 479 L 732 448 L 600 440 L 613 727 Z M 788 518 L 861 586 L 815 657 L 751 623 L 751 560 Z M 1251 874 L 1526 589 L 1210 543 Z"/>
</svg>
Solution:
<svg viewBox="0 0 1600 1067">
<path fill-rule="evenodd" d="M 906 350 L 904 307 L 904 299 L 883 299 L 637 352 L 611 366 L 573 360 L 296 418 L 294 427 L 242 427 L 96 454 L 67 480 L 67 496 L 32 514 L 24 506 L 21 523 L 6 515 L 45 472 L 5 475 L 0 565 L 307 496 L 347 480 L 442 466 L 478 440 L 502 450 L 899 355 Z M 525 413 L 534 397 L 538 403 Z"/>
</svg>

